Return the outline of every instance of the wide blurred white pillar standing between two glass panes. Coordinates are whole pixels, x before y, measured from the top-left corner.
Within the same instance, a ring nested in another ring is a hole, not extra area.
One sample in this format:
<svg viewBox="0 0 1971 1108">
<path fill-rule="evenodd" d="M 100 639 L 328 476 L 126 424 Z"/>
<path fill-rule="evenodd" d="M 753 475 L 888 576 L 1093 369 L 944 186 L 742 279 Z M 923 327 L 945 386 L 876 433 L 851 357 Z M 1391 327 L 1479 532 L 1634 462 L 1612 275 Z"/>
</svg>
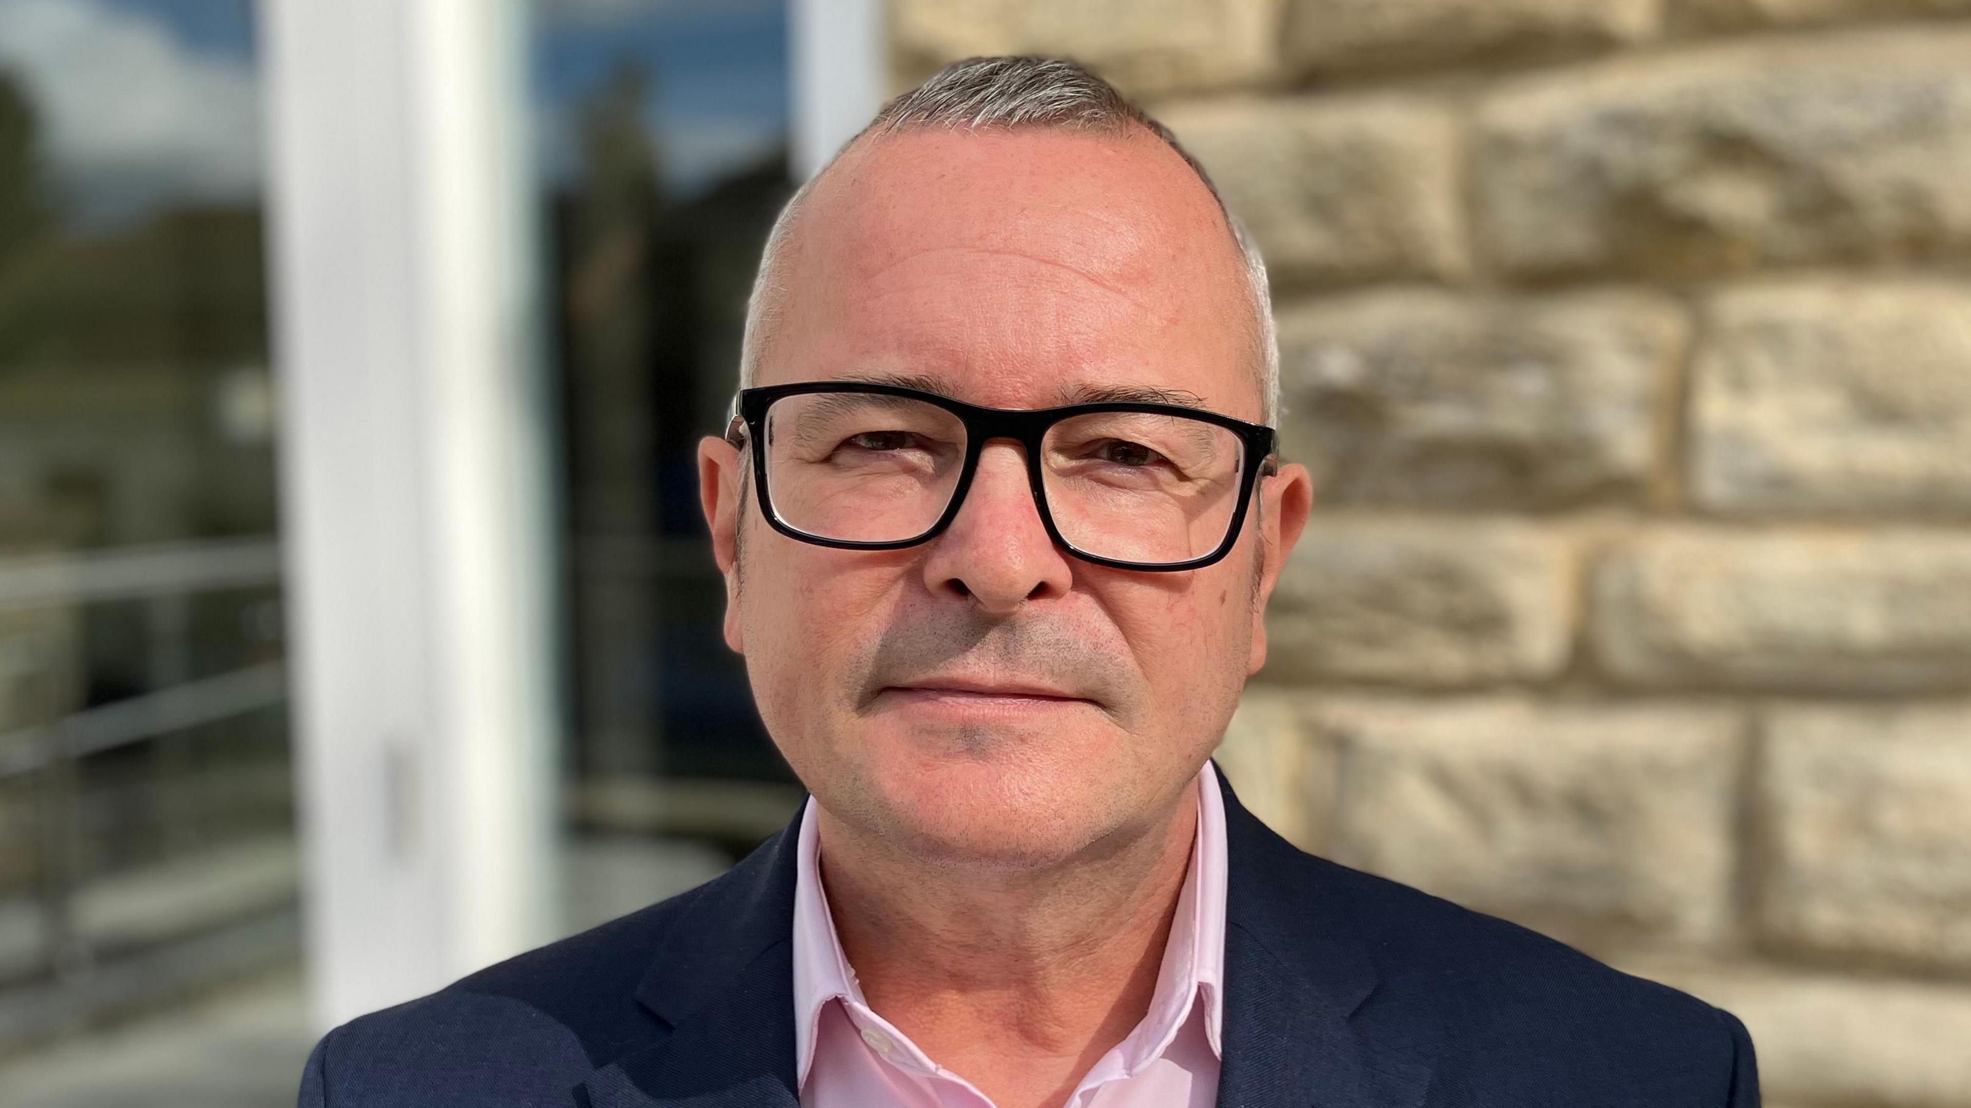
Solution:
<svg viewBox="0 0 1971 1108">
<path fill-rule="evenodd" d="M 262 0 L 306 940 L 327 1027 L 550 938 L 518 0 Z"/>
</svg>

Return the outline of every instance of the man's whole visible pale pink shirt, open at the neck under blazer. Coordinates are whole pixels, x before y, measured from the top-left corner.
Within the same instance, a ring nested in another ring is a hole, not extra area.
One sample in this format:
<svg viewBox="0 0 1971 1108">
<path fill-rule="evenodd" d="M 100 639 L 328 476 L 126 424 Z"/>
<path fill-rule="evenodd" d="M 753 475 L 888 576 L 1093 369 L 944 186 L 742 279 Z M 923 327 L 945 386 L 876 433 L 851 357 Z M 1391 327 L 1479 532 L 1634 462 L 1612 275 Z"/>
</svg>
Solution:
<svg viewBox="0 0 1971 1108">
<path fill-rule="evenodd" d="M 1198 773 L 1198 830 L 1149 1013 L 1090 1069 L 1062 1108 L 1214 1108 L 1226 952 L 1226 812 Z M 794 1065 L 802 1108 L 993 1108 L 865 1002 L 822 889 L 814 800 L 794 883 Z"/>
</svg>

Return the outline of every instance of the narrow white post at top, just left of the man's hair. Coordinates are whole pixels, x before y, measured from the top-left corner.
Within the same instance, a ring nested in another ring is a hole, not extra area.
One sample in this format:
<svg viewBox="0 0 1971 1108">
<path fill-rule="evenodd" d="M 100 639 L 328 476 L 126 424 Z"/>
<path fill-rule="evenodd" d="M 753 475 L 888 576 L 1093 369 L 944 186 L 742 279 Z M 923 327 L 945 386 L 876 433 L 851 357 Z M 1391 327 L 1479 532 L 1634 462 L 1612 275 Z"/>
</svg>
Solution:
<svg viewBox="0 0 1971 1108">
<path fill-rule="evenodd" d="M 883 106 L 881 0 L 788 0 L 792 173 L 812 177 Z"/>
</svg>

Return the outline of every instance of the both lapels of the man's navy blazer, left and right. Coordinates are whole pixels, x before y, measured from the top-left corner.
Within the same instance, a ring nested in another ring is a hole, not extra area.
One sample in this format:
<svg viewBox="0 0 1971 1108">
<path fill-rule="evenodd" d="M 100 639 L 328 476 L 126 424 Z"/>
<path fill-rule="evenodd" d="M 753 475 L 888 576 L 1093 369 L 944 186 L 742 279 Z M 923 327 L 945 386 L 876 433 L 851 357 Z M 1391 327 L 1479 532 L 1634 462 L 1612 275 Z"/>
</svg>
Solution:
<svg viewBox="0 0 1971 1108">
<path fill-rule="evenodd" d="M 1427 1055 L 1358 1019 L 1378 988 L 1334 867 L 1226 806 L 1218 1108 L 1413 1108 Z M 794 866 L 800 812 L 682 911 L 637 988 L 668 1035 L 579 1086 L 585 1108 L 798 1108 Z M 1368 1005 L 1372 1007 L 1372 1005 Z"/>
</svg>

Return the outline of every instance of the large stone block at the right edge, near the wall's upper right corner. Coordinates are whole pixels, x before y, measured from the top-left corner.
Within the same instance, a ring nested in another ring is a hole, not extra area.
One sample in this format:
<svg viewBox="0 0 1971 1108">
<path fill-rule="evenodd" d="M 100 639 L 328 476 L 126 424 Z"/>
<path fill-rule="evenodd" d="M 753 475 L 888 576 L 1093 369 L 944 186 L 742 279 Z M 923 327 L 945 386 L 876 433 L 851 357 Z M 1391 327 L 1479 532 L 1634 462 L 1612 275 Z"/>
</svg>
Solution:
<svg viewBox="0 0 1971 1108">
<path fill-rule="evenodd" d="M 1478 106 L 1478 241 L 1522 276 L 1709 278 L 1971 246 L 1971 28 L 1549 71 Z"/>
</svg>

